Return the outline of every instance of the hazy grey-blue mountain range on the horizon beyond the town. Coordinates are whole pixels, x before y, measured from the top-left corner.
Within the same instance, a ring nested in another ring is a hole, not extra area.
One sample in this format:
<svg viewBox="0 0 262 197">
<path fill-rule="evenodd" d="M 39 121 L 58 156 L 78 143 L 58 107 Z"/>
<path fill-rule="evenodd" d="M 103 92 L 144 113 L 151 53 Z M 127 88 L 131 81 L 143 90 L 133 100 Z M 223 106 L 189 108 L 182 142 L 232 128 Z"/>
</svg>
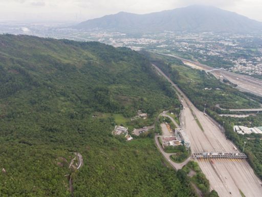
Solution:
<svg viewBox="0 0 262 197">
<path fill-rule="evenodd" d="M 106 29 L 125 33 L 163 31 L 252 33 L 262 23 L 234 12 L 210 6 L 189 6 L 149 14 L 119 12 L 82 22 L 77 29 Z"/>
</svg>

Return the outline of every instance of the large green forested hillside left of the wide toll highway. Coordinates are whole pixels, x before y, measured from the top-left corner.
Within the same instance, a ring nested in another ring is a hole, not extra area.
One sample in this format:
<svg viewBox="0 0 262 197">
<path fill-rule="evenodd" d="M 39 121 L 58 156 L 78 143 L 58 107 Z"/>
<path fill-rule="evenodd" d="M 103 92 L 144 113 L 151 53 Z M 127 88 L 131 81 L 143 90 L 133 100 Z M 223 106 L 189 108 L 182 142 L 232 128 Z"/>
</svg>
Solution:
<svg viewBox="0 0 262 197">
<path fill-rule="evenodd" d="M 74 196 L 194 196 L 150 137 L 112 135 L 114 114 L 150 120 L 177 105 L 130 49 L 0 35 L 0 196 L 71 196 L 68 174 Z M 73 152 L 84 162 L 75 172 Z"/>
</svg>

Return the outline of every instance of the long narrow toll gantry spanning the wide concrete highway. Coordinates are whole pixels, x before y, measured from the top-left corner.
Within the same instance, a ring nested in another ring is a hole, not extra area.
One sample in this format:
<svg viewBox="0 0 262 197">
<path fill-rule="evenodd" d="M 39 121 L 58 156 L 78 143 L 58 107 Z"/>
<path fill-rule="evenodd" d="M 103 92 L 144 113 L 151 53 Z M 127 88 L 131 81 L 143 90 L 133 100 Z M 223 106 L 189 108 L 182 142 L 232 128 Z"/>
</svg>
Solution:
<svg viewBox="0 0 262 197">
<path fill-rule="evenodd" d="M 232 152 L 201 152 L 193 153 L 195 159 L 215 159 L 215 158 L 232 158 L 232 159 L 247 159 L 245 153 L 232 153 Z"/>
</svg>

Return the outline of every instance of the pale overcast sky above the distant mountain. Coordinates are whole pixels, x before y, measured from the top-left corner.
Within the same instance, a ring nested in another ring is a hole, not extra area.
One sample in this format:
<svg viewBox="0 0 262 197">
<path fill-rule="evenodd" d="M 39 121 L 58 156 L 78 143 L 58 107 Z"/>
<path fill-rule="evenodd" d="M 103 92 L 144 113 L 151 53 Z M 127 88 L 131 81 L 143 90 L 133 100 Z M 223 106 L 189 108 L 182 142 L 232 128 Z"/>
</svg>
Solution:
<svg viewBox="0 0 262 197">
<path fill-rule="evenodd" d="M 262 0 L 0 0 L 0 19 L 80 22 L 120 11 L 143 14 L 194 4 L 220 7 L 262 22 Z"/>
</svg>

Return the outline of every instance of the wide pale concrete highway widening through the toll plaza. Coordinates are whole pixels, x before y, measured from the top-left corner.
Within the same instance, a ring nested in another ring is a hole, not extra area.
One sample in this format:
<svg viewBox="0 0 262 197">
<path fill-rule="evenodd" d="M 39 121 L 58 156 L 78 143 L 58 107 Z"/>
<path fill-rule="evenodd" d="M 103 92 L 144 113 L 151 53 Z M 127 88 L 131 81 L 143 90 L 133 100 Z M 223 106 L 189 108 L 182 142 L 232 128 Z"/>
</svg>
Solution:
<svg viewBox="0 0 262 197">
<path fill-rule="evenodd" d="M 152 66 L 182 95 L 178 94 L 184 106 L 181 113 L 182 128 L 191 142 L 192 153 L 239 152 L 233 149 L 234 145 L 226 139 L 217 123 L 195 108 L 187 96 L 158 67 Z M 191 111 L 193 111 L 194 115 Z M 204 131 L 200 129 L 194 116 L 197 117 Z M 216 159 L 214 164 L 207 159 L 197 161 L 209 180 L 211 189 L 216 190 L 219 196 L 241 197 L 239 189 L 247 197 L 262 196 L 261 181 L 254 174 L 253 169 L 246 160 Z"/>
</svg>

